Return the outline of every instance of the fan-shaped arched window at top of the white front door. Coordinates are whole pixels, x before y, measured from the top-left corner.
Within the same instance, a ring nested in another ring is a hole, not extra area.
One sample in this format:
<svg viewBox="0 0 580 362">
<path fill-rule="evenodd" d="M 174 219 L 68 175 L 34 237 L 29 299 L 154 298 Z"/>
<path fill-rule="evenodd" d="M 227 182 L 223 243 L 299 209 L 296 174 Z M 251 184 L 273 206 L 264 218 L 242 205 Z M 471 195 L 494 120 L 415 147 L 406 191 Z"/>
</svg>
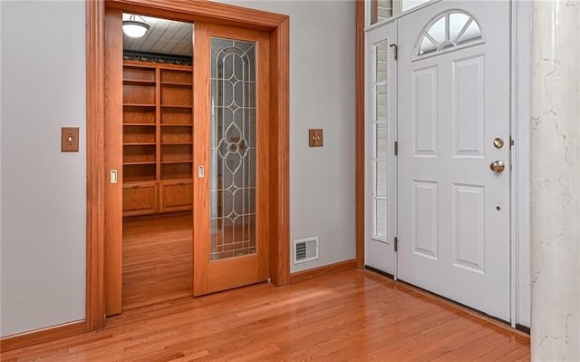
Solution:
<svg viewBox="0 0 580 362">
<path fill-rule="evenodd" d="M 483 34 L 475 18 L 464 11 L 451 10 L 436 17 L 423 29 L 417 56 L 480 42 L 483 42 Z"/>
</svg>

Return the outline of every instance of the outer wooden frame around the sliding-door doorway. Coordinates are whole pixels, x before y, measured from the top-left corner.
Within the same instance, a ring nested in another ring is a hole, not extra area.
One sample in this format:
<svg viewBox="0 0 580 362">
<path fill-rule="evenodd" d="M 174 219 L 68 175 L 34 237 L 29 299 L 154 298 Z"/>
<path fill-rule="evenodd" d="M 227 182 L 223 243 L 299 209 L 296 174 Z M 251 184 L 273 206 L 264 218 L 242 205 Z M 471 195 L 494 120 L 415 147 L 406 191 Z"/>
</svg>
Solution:
<svg viewBox="0 0 580 362">
<path fill-rule="evenodd" d="M 269 268 L 276 286 L 289 283 L 289 17 L 206 0 L 85 0 L 87 54 L 87 259 L 85 328 L 104 327 L 106 212 L 104 147 L 105 6 L 187 22 L 227 24 L 269 33 Z"/>
</svg>

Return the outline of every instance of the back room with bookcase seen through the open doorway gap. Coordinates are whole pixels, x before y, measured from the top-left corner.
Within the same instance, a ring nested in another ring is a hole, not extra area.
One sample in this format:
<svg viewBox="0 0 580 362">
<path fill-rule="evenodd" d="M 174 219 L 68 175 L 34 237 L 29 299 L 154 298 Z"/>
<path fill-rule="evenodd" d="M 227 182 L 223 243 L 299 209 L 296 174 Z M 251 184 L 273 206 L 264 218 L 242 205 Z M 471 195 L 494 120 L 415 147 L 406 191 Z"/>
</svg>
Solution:
<svg viewBox="0 0 580 362">
<path fill-rule="evenodd" d="M 191 296 L 193 24 L 123 14 L 122 305 Z M 124 23 L 125 24 L 125 23 Z"/>
</svg>

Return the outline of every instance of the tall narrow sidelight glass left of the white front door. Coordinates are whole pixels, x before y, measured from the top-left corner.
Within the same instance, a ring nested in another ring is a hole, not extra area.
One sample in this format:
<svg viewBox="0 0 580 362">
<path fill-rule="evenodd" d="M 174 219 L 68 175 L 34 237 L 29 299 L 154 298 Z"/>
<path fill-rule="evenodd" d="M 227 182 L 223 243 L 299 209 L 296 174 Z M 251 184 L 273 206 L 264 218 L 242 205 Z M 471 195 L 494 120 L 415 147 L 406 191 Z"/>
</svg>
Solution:
<svg viewBox="0 0 580 362">
<path fill-rule="evenodd" d="M 374 117 L 372 152 L 372 238 L 387 240 L 388 143 L 389 143 L 389 44 L 374 45 Z"/>
</svg>

